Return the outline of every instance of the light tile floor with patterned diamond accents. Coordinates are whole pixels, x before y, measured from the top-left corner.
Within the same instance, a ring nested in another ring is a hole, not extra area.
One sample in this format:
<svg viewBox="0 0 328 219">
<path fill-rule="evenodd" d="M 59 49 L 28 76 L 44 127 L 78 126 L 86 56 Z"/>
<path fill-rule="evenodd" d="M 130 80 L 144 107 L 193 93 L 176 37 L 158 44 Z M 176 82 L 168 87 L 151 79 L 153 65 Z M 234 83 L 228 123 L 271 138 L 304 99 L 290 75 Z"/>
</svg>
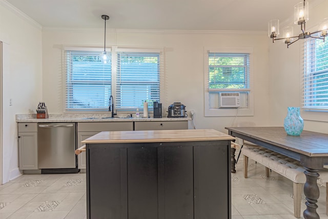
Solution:
<svg viewBox="0 0 328 219">
<path fill-rule="evenodd" d="M 242 160 L 232 173 L 232 218 L 295 218 L 293 184 L 249 161 L 249 178 L 243 178 Z M 317 212 L 325 215 L 325 188 L 320 186 Z M 304 198 L 302 212 L 305 209 Z M 0 218 L 86 218 L 86 174 L 22 175 L 0 186 Z M 303 218 L 303 216 L 301 217 Z M 221 219 L 221 218 L 219 218 Z M 222 218 L 225 219 L 225 218 Z"/>
</svg>

